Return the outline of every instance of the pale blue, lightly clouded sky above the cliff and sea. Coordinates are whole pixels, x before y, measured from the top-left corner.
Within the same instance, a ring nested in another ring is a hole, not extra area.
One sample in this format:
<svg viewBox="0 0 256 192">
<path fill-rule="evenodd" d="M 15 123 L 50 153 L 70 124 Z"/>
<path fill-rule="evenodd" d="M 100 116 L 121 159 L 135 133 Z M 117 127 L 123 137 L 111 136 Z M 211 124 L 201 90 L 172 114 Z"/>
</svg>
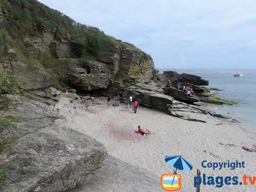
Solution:
<svg viewBox="0 0 256 192">
<path fill-rule="evenodd" d="M 256 69 L 255 0 L 39 0 L 134 44 L 155 68 Z"/>
</svg>

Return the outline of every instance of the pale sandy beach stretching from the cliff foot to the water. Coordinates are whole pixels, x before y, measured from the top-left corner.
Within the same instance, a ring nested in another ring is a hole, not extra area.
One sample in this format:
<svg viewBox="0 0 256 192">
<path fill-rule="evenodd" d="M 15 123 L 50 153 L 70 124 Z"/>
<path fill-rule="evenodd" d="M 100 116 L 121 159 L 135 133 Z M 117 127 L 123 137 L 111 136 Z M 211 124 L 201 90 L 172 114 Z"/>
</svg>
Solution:
<svg viewBox="0 0 256 192">
<path fill-rule="evenodd" d="M 103 105 L 95 105 L 77 109 L 73 122 L 62 123 L 77 131 L 87 134 L 105 145 L 108 154 L 131 163 L 143 166 L 148 171 L 155 173 L 160 180 L 162 174 L 172 173 L 173 167 L 167 165 L 164 158 L 170 155 L 182 155 L 194 168 L 192 171 L 180 171 L 182 189 L 194 191 L 194 176 L 196 170 L 207 176 L 256 176 L 256 152 L 244 151 L 242 146 L 256 145 L 256 134 L 244 130 L 233 124 L 224 122 L 222 125 L 217 120 L 208 123 L 191 122 L 166 113 L 154 111 L 142 106 L 137 113 L 126 111 L 126 105 L 107 108 L 105 100 Z M 138 125 L 155 132 L 155 135 L 142 136 L 134 134 Z M 220 144 L 222 143 L 222 144 Z M 232 144 L 232 145 L 228 145 Z M 245 168 L 230 170 L 212 170 L 203 168 L 201 162 L 245 162 Z M 143 176 L 142 176 L 143 177 Z M 249 180 L 247 179 L 247 182 Z M 160 183 L 159 183 L 160 184 Z M 256 191 L 256 182 L 253 185 L 201 185 L 201 192 L 250 192 Z"/>
</svg>

